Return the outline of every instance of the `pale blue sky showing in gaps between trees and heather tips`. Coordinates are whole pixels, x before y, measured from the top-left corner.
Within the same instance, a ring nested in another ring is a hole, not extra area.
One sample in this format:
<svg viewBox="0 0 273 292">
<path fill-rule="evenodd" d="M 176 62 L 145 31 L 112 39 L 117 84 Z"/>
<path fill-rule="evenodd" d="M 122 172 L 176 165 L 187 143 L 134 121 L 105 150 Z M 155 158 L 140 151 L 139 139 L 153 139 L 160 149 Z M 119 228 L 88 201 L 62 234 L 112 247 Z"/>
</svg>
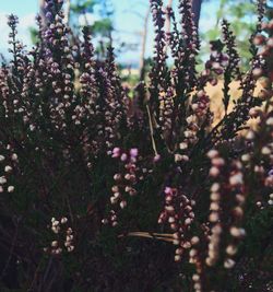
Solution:
<svg viewBox="0 0 273 292">
<path fill-rule="evenodd" d="M 166 1 L 165 1 L 166 2 Z M 178 0 L 174 0 L 177 7 Z M 117 30 L 116 38 L 126 43 L 140 44 L 140 32 L 143 30 L 143 21 L 134 12 L 144 15 L 149 7 L 149 0 L 112 0 L 115 9 L 114 23 Z M 200 28 L 205 32 L 215 25 L 218 0 L 204 2 L 202 7 Z M 7 27 L 7 15 L 14 13 L 20 17 L 19 35 L 21 40 L 31 46 L 29 27 L 35 26 L 35 15 L 38 12 L 38 0 L 0 0 L 0 52 L 7 51 L 7 39 L 9 30 Z M 153 26 L 150 19 L 146 55 L 151 56 L 153 50 Z M 128 51 L 119 56 L 124 62 L 136 62 L 139 51 Z"/>
</svg>

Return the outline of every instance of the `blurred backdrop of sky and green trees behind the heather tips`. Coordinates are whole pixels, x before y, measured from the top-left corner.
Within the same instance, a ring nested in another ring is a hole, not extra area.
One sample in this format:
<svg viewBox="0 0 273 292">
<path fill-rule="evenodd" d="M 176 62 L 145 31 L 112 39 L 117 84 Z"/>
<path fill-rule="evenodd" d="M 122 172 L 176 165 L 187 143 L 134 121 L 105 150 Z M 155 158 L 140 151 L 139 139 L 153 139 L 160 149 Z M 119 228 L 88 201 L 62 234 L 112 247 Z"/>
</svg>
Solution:
<svg viewBox="0 0 273 292">
<path fill-rule="evenodd" d="M 28 48 L 35 43 L 38 12 L 43 12 L 45 0 L 0 1 L 0 52 L 8 57 L 7 15 L 20 17 L 19 35 Z M 254 1 L 251 0 L 193 0 L 195 22 L 202 39 L 201 58 L 206 57 L 209 43 L 219 35 L 218 25 L 223 17 L 233 23 L 238 37 L 242 66 L 247 66 L 248 38 L 254 26 Z M 269 1 L 272 2 L 272 1 Z M 178 0 L 165 0 L 165 7 L 173 7 L 178 17 Z M 83 25 L 91 26 L 98 57 L 105 54 L 105 46 L 112 43 L 117 61 L 130 73 L 138 73 L 143 61 L 153 54 L 153 25 L 149 0 L 64 0 L 67 22 L 75 35 Z M 179 19 L 178 19 L 179 20 Z"/>
</svg>

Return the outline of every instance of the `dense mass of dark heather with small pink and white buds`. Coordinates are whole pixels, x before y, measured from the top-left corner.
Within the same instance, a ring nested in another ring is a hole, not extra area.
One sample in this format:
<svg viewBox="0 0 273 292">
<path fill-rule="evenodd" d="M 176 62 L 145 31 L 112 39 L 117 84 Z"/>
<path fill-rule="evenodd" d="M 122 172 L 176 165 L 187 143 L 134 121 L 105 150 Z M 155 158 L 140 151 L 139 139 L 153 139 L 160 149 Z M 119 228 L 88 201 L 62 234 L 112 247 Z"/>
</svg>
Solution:
<svg viewBox="0 0 273 292">
<path fill-rule="evenodd" d="M 249 71 L 224 20 L 199 73 L 191 1 L 179 1 L 178 22 L 151 0 L 153 65 L 133 98 L 114 48 L 96 60 L 88 27 L 72 42 L 61 7 L 46 1 L 29 51 L 17 39 L 17 17 L 8 20 L 1 291 L 272 291 L 272 89 L 254 94 L 269 69 L 256 42 L 264 2 Z M 225 110 L 215 124 L 206 85 L 218 78 Z M 234 80 L 241 95 L 233 104 Z"/>
</svg>

